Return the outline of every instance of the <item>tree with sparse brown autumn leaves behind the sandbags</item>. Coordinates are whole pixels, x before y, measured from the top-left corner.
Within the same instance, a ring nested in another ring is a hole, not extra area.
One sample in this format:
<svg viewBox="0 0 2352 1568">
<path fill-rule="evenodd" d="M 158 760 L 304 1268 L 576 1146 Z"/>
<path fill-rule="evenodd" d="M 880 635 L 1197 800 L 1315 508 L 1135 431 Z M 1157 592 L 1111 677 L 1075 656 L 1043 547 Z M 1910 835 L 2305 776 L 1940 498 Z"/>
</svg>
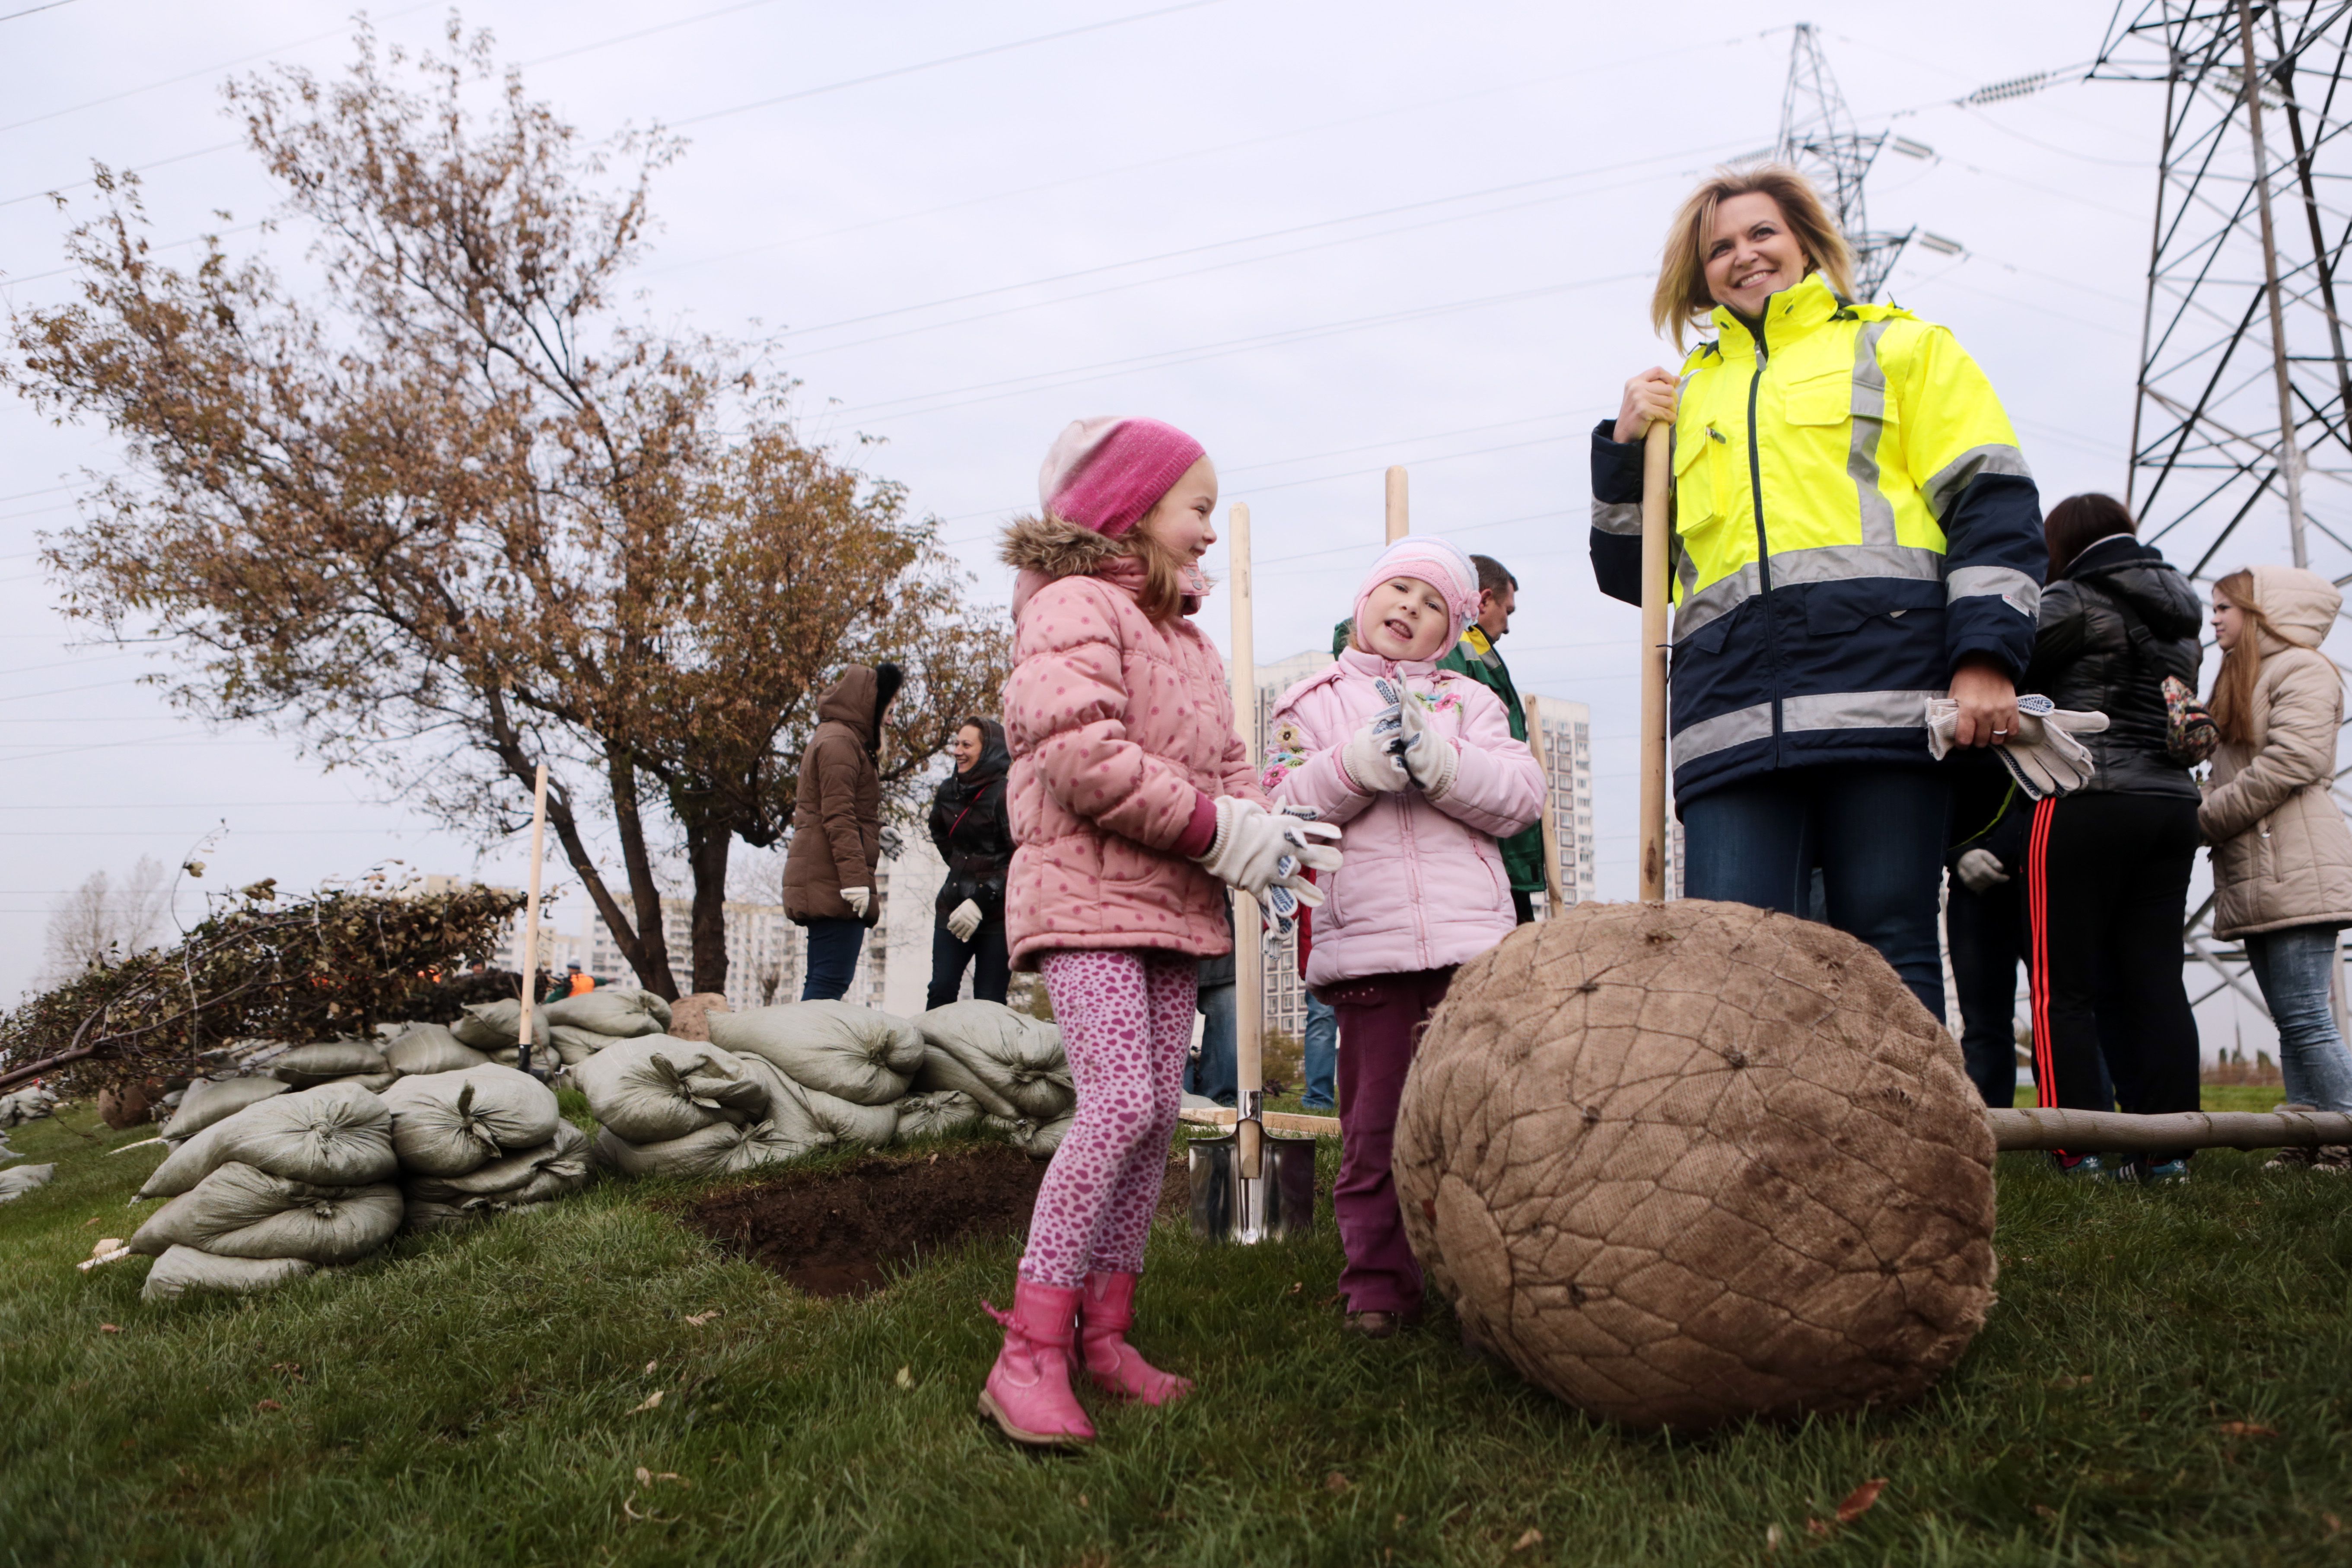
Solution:
<svg viewBox="0 0 2352 1568">
<path fill-rule="evenodd" d="M 362 26 L 348 75 L 228 96 L 278 228 L 310 240 L 306 289 L 219 237 L 165 266 L 136 181 L 99 169 L 80 299 L 14 320 L 7 378 L 129 456 L 45 550 L 68 611 L 172 637 L 191 712 L 485 839 L 548 762 L 548 820 L 640 983 L 675 994 L 654 858 L 682 844 L 694 987 L 724 990 L 729 844 L 786 835 L 840 668 L 908 672 L 882 757 L 903 797 L 995 703 L 1004 632 L 898 484 L 797 437 L 764 343 L 623 308 L 675 141 L 583 146 L 454 19 L 447 52 Z"/>
</svg>

